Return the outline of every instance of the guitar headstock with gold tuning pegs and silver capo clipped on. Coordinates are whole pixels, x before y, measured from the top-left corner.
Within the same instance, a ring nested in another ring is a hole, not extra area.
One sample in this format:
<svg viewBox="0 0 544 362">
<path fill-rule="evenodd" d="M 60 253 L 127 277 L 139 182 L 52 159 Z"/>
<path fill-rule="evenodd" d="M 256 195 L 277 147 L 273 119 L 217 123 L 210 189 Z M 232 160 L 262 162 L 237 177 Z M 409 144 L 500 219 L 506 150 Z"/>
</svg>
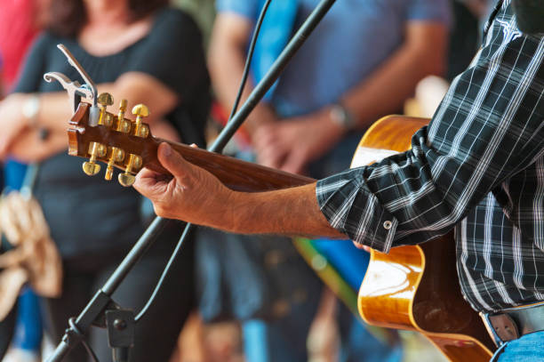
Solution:
<svg viewBox="0 0 544 362">
<path fill-rule="evenodd" d="M 136 116 L 134 122 L 124 118 L 128 104 L 126 100 L 121 101 L 117 116 L 109 113 L 107 108 L 114 103 L 113 96 L 109 93 L 98 94 L 91 76 L 72 53 L 63 44 L 58 44 L 57 47 L 85 81 L 82 85 L 70 80 L 62 73 L 44 74 L 45 81 L 60 82 L 68 92 L 70 105 L 74 111 L 74 116 L 69 122 L 75 127 L 68 129 L 68 153 L 72 156 L 89 158 L 89 161 L 83 164 L 84 173 L 87 175 L 93 176 L 99 173 L 100 165 L 97 161 L 102 161 L 108 164 L 106 180 L 112 179 L 115 166 L 124 170 L 124 173 L 119 174 L 119 183 L 125 187 L 132 186 L 135 181 L 134 174 L 140 171 L 143 165 L 141 139 L 151 136 L 149 126 L 142 122 L 143 117 L 149 115 L 148 107 L 138 104 L 132 109 L 132 114 Z M 83 100 L 91 104 L 82 102 Z M 134 141 L 133 138 L 140 138 L 140 141 Z"/>
</svg>

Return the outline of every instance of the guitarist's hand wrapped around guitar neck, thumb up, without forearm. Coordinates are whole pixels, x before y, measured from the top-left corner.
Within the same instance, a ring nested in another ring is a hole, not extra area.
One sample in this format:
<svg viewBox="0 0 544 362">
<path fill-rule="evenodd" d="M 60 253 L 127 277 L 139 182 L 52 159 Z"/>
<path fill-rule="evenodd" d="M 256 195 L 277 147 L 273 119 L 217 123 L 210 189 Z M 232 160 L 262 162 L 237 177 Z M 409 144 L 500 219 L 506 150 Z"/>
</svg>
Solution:
<svg viewBox="0 0 544 362">
<path fill-rule="evenodd" d="M 188 163 L 162 143 L 157 157 L 173 178 L 148 169 L 136 176 L 134 188 L 148 197 L 158 216 L 228 229 L 228 199 L 232 191 L 212 173 Z"/>
</svg>

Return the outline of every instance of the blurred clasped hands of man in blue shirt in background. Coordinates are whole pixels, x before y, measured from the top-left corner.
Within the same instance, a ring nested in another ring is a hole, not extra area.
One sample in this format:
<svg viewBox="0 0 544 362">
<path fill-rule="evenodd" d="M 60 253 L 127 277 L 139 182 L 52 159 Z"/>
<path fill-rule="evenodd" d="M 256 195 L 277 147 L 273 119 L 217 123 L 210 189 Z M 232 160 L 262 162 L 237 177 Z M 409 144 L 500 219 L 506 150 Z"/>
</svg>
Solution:
<svg viewBox="0 0 544 362">
<path fill-rule="evenodd" d="M 343 132 L 326 107 L 308 116 L 261 125 L 253 133 L 252 143 L 261 165 L 304 173 L 308 162 L 332 149 Z"/>
</svg>

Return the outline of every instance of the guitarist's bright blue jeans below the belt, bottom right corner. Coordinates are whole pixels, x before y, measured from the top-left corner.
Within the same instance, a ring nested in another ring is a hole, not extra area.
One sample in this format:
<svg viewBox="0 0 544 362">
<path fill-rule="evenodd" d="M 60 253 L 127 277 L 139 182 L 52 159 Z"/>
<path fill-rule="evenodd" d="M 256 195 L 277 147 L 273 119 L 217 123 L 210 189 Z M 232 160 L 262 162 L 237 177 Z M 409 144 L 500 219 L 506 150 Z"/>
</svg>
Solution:
<svg viewBox="0 0 544 362">
<path fill-rule="evenodd" d="M 544 361 L 544 331 L 525 334 L 506 342 L 495 352 L 491 362 Z"/>
</svg>

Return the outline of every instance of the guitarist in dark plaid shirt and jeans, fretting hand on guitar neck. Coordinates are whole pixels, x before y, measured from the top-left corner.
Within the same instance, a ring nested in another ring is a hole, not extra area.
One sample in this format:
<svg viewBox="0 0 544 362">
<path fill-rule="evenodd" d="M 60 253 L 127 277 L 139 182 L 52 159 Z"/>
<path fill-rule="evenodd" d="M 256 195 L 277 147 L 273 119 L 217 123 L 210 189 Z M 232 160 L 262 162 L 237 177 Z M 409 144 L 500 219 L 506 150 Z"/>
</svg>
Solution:
<svg viewBox="0 0 544 362">
<path fill-rule="evenodd" d="M 516 4 L 522 8 L 516 9 Z M 135 188 L 152 197 L 163 216 L 237 232 L 331 237 L 346 233 L 357 245 L 383 253 L 397 245 L 424 242 L 456 226 L 458 251 L 476 245 L 468 258 L 458 254 L 460 286 L 472 308 L 483 317 L 500 316 L 510 322 L 514 308 L 526 311 L 523 317 L 538 314 L 543 288 L 535 270 L 542 261 L 539 242 L 544 239 L 542 229 L 535 227 L 542 214 L 541 189 L 536 185 L 542 184 L 544 141 L 541 4 L 499 2 L 487 22 L 484 46 L 471 67 L 455 78 L 428 128 L 412 137 L 412 150 L 317 184 L 252 196 L 230 192 L 210 173 L 163 145 L 159 159 L 176 179 L 164 181 L 156 173 L 143 172 Z M 475 141 L 475 134 L 482 141 Z M 208 187 L 196 189 L 196 184 Z M 207 214 L 205 207 L 184 207 L 211 192 L 212 199 L 230 203 L 215 202 L 207 209 L 246 212 L 224 223 Z M 508 197 L 512 192 L 516 194 Z M 508 258 L 495 260 L 484 272 L 481 263 L 473 261 L 484 261 L 490 250 L 502 251 Z M 541 326 L 520 322 L 524 328 L 519 330 L 539 332 L 520 336 L 509 332 L 512 323 L 504 334 L 504 325 L 499 324 L 487 323 L 500 346 L 492 360 L 544 358 Z"/>
</svg>

